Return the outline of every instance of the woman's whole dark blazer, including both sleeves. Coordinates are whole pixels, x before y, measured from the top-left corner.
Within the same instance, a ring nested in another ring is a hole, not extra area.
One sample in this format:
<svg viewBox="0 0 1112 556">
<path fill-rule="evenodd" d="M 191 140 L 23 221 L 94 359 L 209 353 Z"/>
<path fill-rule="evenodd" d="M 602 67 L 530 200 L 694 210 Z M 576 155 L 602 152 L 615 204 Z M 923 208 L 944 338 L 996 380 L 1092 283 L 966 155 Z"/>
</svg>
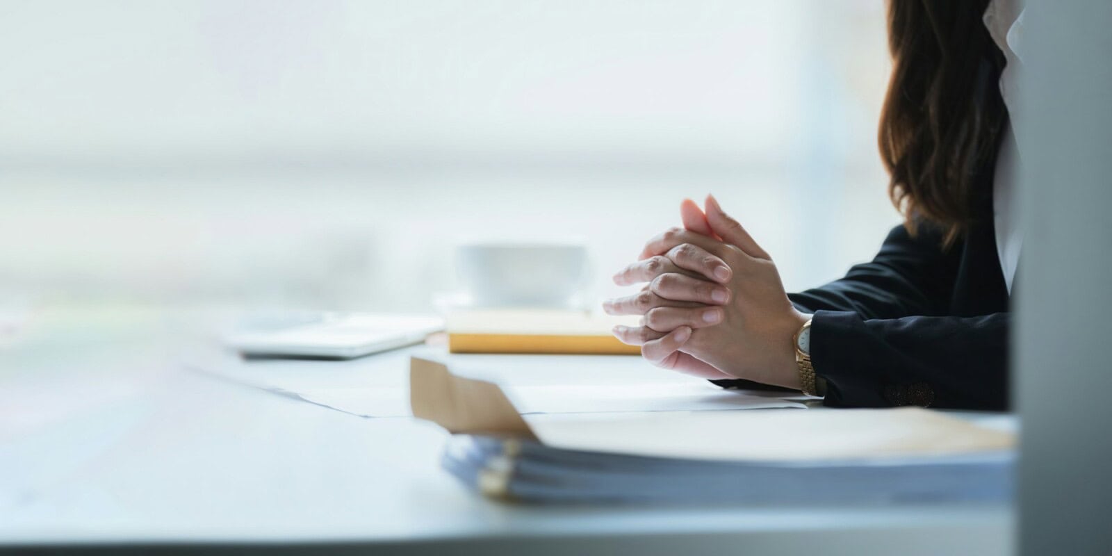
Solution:
<svg viewBox="0 0 1112 556">
<path fill-rule="evenodd" d="M 937 229 L 894 228 L 872 262 L 788 297 L 814 312 L 811 357 L 836 407 L 1005 409 L 1009 295 L 996 252 L 992 176 L 976 222 L 950 249 Z M 726 387 L 752 383 L 716 380 Z"/>
</svg>

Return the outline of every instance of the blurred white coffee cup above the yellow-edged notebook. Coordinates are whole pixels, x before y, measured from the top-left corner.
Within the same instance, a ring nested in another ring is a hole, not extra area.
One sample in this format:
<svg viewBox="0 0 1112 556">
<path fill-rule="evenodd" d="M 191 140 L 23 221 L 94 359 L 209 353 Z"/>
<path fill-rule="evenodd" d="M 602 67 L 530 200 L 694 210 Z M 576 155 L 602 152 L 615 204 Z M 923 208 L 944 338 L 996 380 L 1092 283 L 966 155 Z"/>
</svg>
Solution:
<svg viewBox="0 0 1112 556">
<path fill-rule="evenodd" d="M 587 281 L 576 242 L 473 242 L 456 248 L 459 281 L 476 307 L 569 307 Z"/>
</svg>

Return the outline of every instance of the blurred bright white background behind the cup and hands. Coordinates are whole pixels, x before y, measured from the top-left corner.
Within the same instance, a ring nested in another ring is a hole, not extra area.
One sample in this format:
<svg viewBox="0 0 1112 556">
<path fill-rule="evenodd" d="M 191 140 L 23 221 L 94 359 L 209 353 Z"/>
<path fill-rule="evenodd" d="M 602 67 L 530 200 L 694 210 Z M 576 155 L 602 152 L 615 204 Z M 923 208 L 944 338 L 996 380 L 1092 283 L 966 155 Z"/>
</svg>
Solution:
<svg viewBox="0 0 1112 556">
<path fill-rule="evenodd" d="M 0 304 L 427 310 L 461 240 L 593 295 L 714 192 L 800 289 L 898 221 L 883 0 L 0 0 Z"/>
</svg>

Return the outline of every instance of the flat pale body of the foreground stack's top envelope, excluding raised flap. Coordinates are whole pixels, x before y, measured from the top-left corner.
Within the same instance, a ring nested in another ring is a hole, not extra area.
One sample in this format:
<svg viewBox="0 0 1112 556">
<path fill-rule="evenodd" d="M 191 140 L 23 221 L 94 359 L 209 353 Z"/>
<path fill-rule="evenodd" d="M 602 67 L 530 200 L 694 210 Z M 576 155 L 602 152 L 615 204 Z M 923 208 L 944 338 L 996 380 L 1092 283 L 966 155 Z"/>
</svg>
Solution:
<svg viewBox="0 0 1112 556">
<path fill-rule="evenodd" d="M 917 407 L 613 416 L 530 425 L 550 447 L 704 460 L 951 456 L 1007 450 L 1015 444 L 1014 435 Z"/>
</svg>

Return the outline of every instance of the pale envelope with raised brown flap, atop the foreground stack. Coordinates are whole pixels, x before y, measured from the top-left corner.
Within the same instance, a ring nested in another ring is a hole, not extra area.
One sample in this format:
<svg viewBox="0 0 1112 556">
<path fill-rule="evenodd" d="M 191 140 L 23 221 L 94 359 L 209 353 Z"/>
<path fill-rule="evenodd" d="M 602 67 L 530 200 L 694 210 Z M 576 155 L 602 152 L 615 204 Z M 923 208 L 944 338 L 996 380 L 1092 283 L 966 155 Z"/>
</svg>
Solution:
<svg viewBox="0 0 1112 556">
<path fill-rule="evenodd" d="M 513 395 L 416 357 L 410 363 L 409 396 L 415 416 L 453 433 L 481 435 L 488 433 L 484 426 L 494 426 L 548 447 L 634 456 L 830 460 L 1002 451 L 1015 444 L 1013 434 L 922 408 L 636 414 L 534 419 L 522 428 L 520 415 L 528 407 L 517 407 Z M 470 418 L 476 414 L 485 416 L 480 423 Z"/>
</svg>

